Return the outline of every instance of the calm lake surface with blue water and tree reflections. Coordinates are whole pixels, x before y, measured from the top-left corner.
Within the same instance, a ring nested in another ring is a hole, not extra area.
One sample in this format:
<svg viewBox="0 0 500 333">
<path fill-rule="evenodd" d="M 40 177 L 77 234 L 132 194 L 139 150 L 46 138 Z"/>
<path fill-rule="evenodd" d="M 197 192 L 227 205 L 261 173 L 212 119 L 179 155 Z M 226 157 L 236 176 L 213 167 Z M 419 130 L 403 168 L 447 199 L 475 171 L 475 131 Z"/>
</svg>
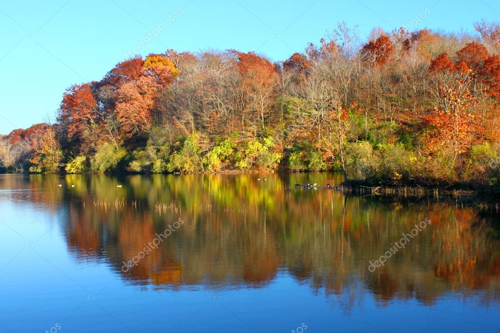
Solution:
<svg viewBox="0 0 500 333">
<path fill-rule="evenodd" d="M 1 175 L 0 332 L 500 332 L 497 217 L 257 176 Z"/>
</svg>

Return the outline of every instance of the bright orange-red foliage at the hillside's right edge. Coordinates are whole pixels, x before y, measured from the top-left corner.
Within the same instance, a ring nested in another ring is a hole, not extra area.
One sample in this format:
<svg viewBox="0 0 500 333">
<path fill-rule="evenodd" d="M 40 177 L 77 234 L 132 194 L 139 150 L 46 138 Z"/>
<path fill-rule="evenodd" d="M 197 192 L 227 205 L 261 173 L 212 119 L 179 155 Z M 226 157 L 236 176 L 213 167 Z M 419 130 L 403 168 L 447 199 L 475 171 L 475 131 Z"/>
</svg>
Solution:
<svg viewBox="0 0 500 333">
<path fill-rule="evenodd" d="M 466 152 L 473 142 L 487 137 L 495 137 L 498 129 L 487 126 L 491 113 L 481 108 L 496 108 L 493 104 L 481 103 L 480 98 L 472 92 L 486 92 L 486 96 L 497 97 L 500 84 L 500 65 L 497 55 L 489 55 L 484 45 L 477 42 L 467 43 L 458 50 L 452 62 L 447 53 L 432 59 L 429 72 L 433 73 L 434 85 L 431 92 L 436 101 L 435 111 L 426 119 L 434 125 L 435 136 L 430 138 L 437 145 L 450 145 L 453 149 L 453 161 L 459 154 Z M 482 111 L 481 115 L 477 115 Z M 429 145 L 436 148 L 436 145 Z"/>
</svg>

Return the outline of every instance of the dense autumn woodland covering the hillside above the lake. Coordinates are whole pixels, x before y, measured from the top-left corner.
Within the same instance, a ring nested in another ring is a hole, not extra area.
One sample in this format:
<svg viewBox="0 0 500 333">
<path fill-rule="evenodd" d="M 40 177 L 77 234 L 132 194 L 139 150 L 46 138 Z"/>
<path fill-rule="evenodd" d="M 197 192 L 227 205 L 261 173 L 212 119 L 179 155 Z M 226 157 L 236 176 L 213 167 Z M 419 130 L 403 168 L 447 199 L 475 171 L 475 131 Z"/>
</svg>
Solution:
<svg viewBox="0 0 500 333">
<path fill-rule="evenodd" d="M 237 50 L 137 56 L 69 87 L 54 124 L 2 137 L 3 169 L 340 170 L 498 192 L 500 23 L 474 26 L 362 41 L 341 22 L 275 63 Z"/>
</svg>

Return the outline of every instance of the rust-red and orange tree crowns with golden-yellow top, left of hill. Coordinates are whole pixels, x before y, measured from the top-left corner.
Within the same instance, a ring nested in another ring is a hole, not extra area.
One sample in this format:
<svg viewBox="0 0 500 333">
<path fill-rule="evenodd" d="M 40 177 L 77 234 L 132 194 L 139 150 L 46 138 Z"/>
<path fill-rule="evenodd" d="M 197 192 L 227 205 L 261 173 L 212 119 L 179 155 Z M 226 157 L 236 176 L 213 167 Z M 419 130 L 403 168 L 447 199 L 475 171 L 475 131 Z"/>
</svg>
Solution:
<svg viewBox="0 0 500 333">
<path fill-rule="evenodd" d="M 178 75 L 166 55 L 151 54 L 144 61 L 140 58 L 123 61 L 103 81 L 69 88 L 63 96 L 58 120 L 67 125 L 68 137 L 76 135 L 80 142 L 94 125 L 112 126 L 106 117 L 116 117 L 121 130 L 132 137 L 151 126 L 151 111 L 160 89 Z M 104 95 L 104 105 L 97 104 L 93 90 Z"/>
</svg>

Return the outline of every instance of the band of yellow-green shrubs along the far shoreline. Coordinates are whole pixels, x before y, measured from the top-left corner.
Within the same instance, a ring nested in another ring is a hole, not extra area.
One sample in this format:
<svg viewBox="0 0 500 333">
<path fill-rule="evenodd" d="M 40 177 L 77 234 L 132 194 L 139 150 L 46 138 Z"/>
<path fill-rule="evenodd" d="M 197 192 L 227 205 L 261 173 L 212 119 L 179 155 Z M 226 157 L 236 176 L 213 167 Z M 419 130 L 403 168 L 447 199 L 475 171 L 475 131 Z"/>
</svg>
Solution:
<svg viewBox="0 0 500 333">
<path fill-rule="evenodd" d="M 355 126 L 355 122 L 352 123 Z M 199 140 L 197 133 L 187 135 L 179 140 L 172 153 L 169 145 L 158 148 L 150 141 L 145 149 L 132 152 L 104 143 L 94 155 L 68 158 L 68 162 L 60 164 L 56 170 L 36 168 L 31 159 L 29 163 L 24 163 L 27 170 L 20 164 L 21 168 L 3 168 L 3 172 L 185 174 L 342 171 L 338 163 L 326 163 L 321 151 L 307 141 L 279 151 L 272 136 L 249 140 L 239 147 L 227 138 L 202 154 Z M 500 145 L 497 144 L 484 142 L 472 145 L 463 155 L 460 169 L 454 167 L 450 153 L 436 154 L 433 158 L 418 156 L 402 143 L 349 142 L 345 144 L 343 154 L 346 171 L 355 174 L 353 179 L 346 179 L 345 187 L 439 188 L 500 193 Z"/>
</svg>

